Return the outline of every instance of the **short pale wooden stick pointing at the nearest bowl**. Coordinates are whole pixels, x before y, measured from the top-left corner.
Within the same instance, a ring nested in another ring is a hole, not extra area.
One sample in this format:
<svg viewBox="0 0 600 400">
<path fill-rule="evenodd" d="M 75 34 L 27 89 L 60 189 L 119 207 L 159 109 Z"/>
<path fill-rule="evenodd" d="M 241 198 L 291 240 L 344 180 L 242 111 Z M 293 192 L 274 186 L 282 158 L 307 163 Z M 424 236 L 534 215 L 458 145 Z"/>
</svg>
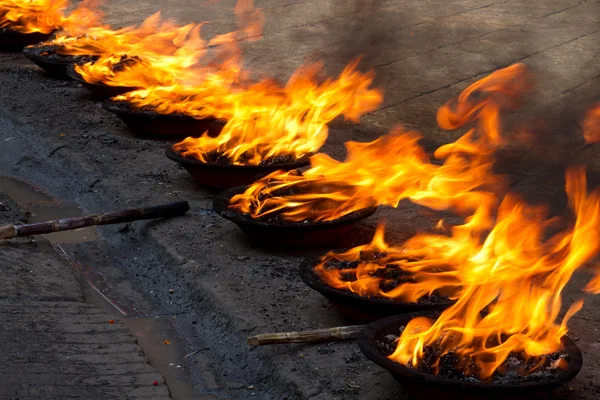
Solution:
<svg viewBox="0 0 600 400">
<path fill-rule="evenodd" d="M 263 346 L 265 344 L 318 343 L 353 340 L 358 338 L 358 333 L 363 328 L 364 325 L 352 325 L 304 332 L 263 333 L 261 335 L 250 336 L 248 338 L 248 344 L 253 346 Z"/>
</svg>

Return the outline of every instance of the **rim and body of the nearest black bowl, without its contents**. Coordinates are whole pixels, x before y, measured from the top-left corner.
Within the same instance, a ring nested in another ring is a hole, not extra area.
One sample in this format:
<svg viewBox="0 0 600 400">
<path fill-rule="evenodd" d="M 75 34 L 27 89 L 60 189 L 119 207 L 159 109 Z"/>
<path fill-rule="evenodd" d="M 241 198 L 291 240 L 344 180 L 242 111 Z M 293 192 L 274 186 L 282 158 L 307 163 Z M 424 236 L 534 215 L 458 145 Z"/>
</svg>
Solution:
<svg viewBox="0 0 600 400">
<path fill-rule="evenodd" d="M 562 338 L 563 351 L 569 355 L 565 370 L 551 379 L 522 383 L 483 383 L 454 380 L 427 374 L 396 363 L 382 349 L 387 335 L 398 335 L 399 329 L 417 316 L 436 319 L 440 311 L 396 315 L 375 321 L 363 329 L 358 338 L 358 346 L 371 361 L 385 368 L 407 391 L 409 396 L 419 399 L 507 399 L 545 392 L 566 384 L 579 373 L 583 364 L 581 352 L 575 342 L 567 336 Z"/>
</svg>

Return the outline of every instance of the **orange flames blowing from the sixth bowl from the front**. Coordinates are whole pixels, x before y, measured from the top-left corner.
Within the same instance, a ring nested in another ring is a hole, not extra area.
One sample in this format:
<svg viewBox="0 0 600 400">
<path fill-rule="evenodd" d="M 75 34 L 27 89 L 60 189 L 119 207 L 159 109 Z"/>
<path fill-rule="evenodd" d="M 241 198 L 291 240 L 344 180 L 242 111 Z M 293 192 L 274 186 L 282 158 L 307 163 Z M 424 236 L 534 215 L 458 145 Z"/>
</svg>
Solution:
<svg viewBox="0 0 600 400">
<path fill-rule="evenodd" d="M 254 8 L 252 0 L 239 0 L 234 11 L 240 29 L 219 35 L 208 43 L 200 35 L 202 24 L 178 26 L 171 21 L 162 22 L 158 13 L 137 28 L 104 32 L 101 40 L 92 41 L 102 46 L 100 59 L 78 66 L 76 70 L 90 83 L 140 88 L 131 97 L 119 100 L 125 99 L 137 107 L 154 105 L 153 109 L 161 111 L 164 107 L 152 104 L 155 98 L 172 95 L 187 99 L 196 95 L 193 88 L 199 79 L 210 80 L 209 89 L 215 89 L 215 80 L 222 83 L 238 79 L 241 73 L 239 40 L 262 32 L 263 14 Z M 86 42 L 89 40 L 75 40 L 75 45 L 83 43 L 87 51 Z M 215 48 L 216 60 L 203 65 L 201 62 L 205 61 L 210 47 Z M 68 47 L 66 50 L 72 51 Z M 227 94 L 224 90 L 227 85 L 218 89 L 221 95 Z M 141 100 L 136 102 L 138 98 Z"/>
</svg>

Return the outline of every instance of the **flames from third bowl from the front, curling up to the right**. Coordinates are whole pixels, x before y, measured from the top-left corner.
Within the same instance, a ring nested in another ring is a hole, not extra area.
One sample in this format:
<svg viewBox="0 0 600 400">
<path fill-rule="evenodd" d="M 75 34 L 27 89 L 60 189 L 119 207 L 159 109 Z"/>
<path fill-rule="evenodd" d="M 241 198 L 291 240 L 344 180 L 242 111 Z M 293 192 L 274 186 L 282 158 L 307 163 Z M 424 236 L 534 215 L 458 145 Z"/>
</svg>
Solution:
<svg viewBox="0 0 600 400">
<path fill-rule="evenodd" d="M 371 143 L 348 142 L 344 162 L 316 154 L 307 171 L 275 172 L 233 197 L 230 207 L 253 218 L 329 221 L 374 205 L 396 207 L 408 198 L 436 210 L 477 210 L 473 220 L 489 223 L 489 207 L 482 205 L 496 201 L 491 191 L 501 185 L 492 171 L 494 151 L 503 144 L 498 114 L 518 103 L 528 82 L 527 70 L 516 64 L 441 107 L 438 124 L 444 129 L 477 121 L 459 140 L 437 149 L 442 165 L 430 162 L 416 132 L 398 128 Z"/>
</svg>

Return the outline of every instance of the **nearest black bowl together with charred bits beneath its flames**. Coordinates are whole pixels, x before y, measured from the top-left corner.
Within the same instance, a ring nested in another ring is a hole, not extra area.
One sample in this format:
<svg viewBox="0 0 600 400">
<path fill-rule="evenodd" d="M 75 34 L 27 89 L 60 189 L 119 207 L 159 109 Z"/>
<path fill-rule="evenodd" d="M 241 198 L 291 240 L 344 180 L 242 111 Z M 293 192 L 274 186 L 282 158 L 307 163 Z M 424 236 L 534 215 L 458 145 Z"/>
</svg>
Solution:
<svg viewBox="0 0 600 400">
<path fill-rule="evenodd" d="M 417 316 L 432 319 L 439 317 L 441 311 L 420 312 L 397 315 L 373 322 L 359 335 L 358 345 L 361 351 L 380 367 L 385 368 L 402 385 L 409 395 L 419 398 L 452 398 L 452 399 L 506 399 L 522 397 L 533 393 L 557 388 L 571 381 L 581 369 L 583 360 L 581 352 L 567 336 L 562 338 L 562 349 L 558 353 L 547 356 L 548 365 L 553 358 L 567 361 L 566 368 L 551 369 L 542 366 L 539 371 L 529 376 L 519 375 L 517 370 L 525 361 L 523 355 L 514 354 L 507 359 L 503 376 L 493 376 L 491 381 L 483 382 L 465 376 L 462 371 L 453 368 L 453 355 L 447 354 L 440 359 L 440 373 L 433 375 L 430 366 L 426 365 L 427 355 L 435 357 L 435 349 L 425 349 L 423 365 L 411 368 L 388 356 L 395 349 L 395 340 L 406 324 Z M 455 358 L 455 356 L 454 356 Z M 455 361 L 455 360 L 454 360 Z M 530 361 L 529 361 L 530 362 Z M 512 364 L 512 365 L 511 365 Z"/>
</svg>

